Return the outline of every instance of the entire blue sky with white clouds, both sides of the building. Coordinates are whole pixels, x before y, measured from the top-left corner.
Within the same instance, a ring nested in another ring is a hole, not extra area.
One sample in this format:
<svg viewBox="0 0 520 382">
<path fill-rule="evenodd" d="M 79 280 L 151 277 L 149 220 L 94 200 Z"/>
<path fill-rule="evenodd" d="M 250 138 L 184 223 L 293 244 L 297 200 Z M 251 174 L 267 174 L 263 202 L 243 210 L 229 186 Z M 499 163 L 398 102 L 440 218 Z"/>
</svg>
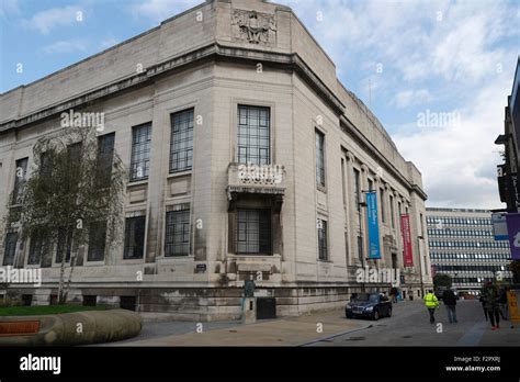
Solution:
<svg viewBox="0 0 520 382">
<path fill-rule="evenodd" d="M 0 0 L 0 92 L 202 0 Z M 280 0 L 422 173 L 427 206 L 500 209 L 495 138 L 520 54 L 520 0 Z"/>
</svg>

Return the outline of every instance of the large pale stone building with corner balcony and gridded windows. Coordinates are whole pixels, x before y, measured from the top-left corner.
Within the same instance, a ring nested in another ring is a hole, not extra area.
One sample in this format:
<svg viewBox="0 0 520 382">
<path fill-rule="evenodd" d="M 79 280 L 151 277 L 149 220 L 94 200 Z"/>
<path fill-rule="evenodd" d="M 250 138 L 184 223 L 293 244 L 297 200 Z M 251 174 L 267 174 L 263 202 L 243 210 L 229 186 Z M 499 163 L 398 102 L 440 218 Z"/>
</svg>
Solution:
<svg viewBox="0 0 520 382">
<path fill-rule="evenodd" d="M 249 279 L 278 315 L 342 306 L 362 288 L 360 267 L 398 268 L 415 294 L 431 284 L 420 172 L 287 7 L 206 1 L 1 94 L 2 215 L 15 169 L 31 171 L 34 143 L 71 109 L 103 113 L 100 143 L 129 168 L 131 238 L 78 248 L 74 301 L 214 319 L 240 316 Z M 378 196 L 380 260 L 366 255 L 369 189 Z M 11 232 L 0 259 L 38 268 L 38 249 Z M 49 256 L 41 288 L 10 286 L 25 301 L 56 294 Z"/>
</svg>

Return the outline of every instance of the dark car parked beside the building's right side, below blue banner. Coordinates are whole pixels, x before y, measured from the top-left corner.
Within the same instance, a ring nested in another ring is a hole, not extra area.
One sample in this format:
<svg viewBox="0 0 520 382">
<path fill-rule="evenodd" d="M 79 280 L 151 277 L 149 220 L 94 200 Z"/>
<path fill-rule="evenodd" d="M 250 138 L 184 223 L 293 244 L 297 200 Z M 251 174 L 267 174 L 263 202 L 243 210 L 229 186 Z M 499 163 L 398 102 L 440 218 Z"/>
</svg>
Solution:
<svg viewBox="0 0 520 382">
<path fill-rule="evenodd" d="M 392 316 L 392 302 L 387 296 L 378 292 L 358 293 L 344 307 L 347 318 L 364 317 L 380 319 L 380 317 Z"/>
</svg>

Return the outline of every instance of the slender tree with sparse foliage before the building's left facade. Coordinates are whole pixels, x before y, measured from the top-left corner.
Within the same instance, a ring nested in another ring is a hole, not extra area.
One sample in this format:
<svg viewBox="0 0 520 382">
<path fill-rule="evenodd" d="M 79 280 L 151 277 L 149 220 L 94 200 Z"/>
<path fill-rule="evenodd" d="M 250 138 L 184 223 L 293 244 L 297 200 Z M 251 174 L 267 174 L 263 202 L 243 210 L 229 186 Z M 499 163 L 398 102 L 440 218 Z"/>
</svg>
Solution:
<svg viewBox="0 0 520 382">
<path fill-rule="evenodd" d="M 22 240 L 45 243 L 42 265 L 50 265 L 56 245 L 59 304 L 67 301 L 77 249 L 89 243 L 93 227 L 106 228 L 101 240 L 109 246 L 123 237 L 127 171 L 117 154 L 99 142 L 92 127 L 66 127 L 38 139 L 32 171 L 16 182 L 10 198 L 14 206 L 8 206 L 5 228 L 16 226 Z"/>
</svg>

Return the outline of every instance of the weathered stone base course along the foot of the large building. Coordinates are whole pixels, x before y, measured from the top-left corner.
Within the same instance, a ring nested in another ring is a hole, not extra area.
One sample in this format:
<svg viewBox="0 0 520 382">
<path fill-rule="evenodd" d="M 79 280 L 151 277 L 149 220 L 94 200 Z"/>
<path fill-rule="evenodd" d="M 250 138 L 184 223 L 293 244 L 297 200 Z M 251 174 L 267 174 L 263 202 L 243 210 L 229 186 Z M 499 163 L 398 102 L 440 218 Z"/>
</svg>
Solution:
<svg viewBox="0 0 520 382">
<path fill-rule="evenodd" d="M 364 291 L 386 291 L 387 284 L 371 284 Z M 352 293 L 363 291 L 360 284 L 257 288 L 257 302 L 271 299 L 275 304 L 275 316 L 298 316 L 319 311 L 344 307 Z M 13 288 L 11 297 L 21 299 L 25 304 L 49 305 L 56 301 L 57 288 Z M 68 295 L 71 304 L 105 305 L 124 307 L 136 312 L 167 313 L 170 319 L 208 322 L 219 319 L 241 319 L 244 312 L 244 289 L 215 288 L 133 288 L 133 286 L 81 286 L 71 288 Z M 260 305 L 260 304 L 258 304 Z M 259 306 L 257 308 L 260 308 Z"/>
</svg>

